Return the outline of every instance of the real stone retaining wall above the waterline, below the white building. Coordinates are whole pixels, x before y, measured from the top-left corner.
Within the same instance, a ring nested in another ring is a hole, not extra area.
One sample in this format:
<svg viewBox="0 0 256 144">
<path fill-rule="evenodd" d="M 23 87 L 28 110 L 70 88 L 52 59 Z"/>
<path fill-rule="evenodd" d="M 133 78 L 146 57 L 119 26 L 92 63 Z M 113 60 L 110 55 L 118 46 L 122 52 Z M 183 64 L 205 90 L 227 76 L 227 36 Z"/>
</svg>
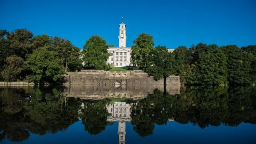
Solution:
<svg viewBox="0 0 256 144">
<path fill-rule="evenodd" d="M 114 84 L 144 84 L 144 85 L 164 85 L 164 80 L 155 81 L 152 76 L 144 72 L 110 72 L 97 70 L 83 70 L 82 72 L 68 72 L 66 83 L 79 85 L 114 85 Z M 166 85 L 180 85 L 179 76 L 170 76 L 166 79 Z"/>
</svg>

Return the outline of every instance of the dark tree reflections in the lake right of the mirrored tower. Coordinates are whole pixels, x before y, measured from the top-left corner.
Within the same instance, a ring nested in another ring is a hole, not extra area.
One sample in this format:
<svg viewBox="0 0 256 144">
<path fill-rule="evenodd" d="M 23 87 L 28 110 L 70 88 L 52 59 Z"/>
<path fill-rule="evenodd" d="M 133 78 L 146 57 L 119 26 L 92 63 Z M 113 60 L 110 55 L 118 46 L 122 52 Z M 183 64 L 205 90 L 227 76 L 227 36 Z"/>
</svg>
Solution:
<svg viewBox="0 0 256 144">
<path fill-rule="evenodd" d="M 200 128 L 256 123 L 255 87 L 184 87 L 178 96 L 154 90 L 131 108 L 132 125 L 140 136 L 153 134 L 154 124 L 169 119 Z"/>
</svg>

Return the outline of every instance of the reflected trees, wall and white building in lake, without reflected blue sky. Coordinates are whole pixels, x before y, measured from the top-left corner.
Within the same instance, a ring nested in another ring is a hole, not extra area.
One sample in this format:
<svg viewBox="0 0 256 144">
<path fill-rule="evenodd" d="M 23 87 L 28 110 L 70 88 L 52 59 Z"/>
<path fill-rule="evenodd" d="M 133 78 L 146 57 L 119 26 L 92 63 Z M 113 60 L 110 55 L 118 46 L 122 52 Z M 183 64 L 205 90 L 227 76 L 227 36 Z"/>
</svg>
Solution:
<svg viewBox="0 0 256 144">
<path fill-rule="evenodd" d="M 168 121 L 200 128 L 256 123 L 255 87 L 170 86 L 167 92 L 161 86 L 0 87 L 0 139 L 56 134 L 79 120 L 91 135 L 118 122 L 123 144 L 127 122 L 142 137 Z"/>
</svg>

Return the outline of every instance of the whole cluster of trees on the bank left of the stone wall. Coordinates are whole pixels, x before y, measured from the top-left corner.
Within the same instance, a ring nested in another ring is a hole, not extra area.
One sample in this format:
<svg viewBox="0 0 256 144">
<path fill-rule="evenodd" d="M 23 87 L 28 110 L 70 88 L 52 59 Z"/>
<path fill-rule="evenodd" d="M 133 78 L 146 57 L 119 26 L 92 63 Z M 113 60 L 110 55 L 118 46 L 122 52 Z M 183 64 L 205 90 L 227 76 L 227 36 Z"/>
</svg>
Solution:
<svg viewBox="0 0 256 144">
<path fill-rule="evenodd" d="M 82 69 L 80 49 L 69 40 L 26 29 L 0 30 L 0 80 L 60 83 L 62 74 Z"/>
</svg>

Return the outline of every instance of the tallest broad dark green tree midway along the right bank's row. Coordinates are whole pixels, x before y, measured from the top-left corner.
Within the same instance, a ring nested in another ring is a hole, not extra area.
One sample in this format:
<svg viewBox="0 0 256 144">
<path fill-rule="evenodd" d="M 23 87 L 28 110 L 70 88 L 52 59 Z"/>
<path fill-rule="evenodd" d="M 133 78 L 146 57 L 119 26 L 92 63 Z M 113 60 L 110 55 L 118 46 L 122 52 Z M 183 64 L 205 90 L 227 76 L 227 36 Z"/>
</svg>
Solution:
<svg viewBox="0 0 256 144">
<path fill-rule="evenodd" d="M 188 84 L 226 84 L 226 55 L 216 44 L 197 44 L 192 50 L 192 68 L 188 74 Z"/>
</svg>

